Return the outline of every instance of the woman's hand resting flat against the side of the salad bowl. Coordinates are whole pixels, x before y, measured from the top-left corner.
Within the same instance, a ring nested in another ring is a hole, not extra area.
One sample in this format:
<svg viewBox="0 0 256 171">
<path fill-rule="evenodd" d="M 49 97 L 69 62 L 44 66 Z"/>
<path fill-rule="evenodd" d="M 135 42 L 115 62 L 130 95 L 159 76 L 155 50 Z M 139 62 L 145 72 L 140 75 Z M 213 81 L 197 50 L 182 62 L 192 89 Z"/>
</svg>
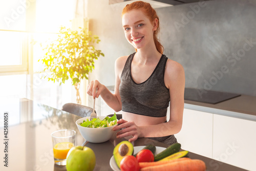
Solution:
<svg viewBox="0 0 256 171">
<path fill-rule="evenodd" d="M 138 139 L 140 136 L 140 128 L 133 121 L 128 122 L 126 120 L 120 119 L 117 121 L 119 125 L 113 128 L 113 131 L 119 130 L 117 132 L 117 138 L 124 138 L 128 136 L 133 136 L 133 138 L 129 139 L 129 142 L 133 142 Z"/>
</svg>

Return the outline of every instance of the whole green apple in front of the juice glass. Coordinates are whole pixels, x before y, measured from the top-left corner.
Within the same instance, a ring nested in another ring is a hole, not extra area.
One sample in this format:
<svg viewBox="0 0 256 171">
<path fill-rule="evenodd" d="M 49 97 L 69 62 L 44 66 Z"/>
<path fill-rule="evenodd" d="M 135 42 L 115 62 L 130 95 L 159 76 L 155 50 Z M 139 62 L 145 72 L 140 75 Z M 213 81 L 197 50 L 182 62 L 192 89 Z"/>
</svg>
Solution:
<svg viewBox="0 0 256 171">
<path fill-rule="evenodd" d="M 67 171 L 92 171 L 96 164 L 93 150 L 86 146 L 74 146 L 67 155 Z"/>
</svg>

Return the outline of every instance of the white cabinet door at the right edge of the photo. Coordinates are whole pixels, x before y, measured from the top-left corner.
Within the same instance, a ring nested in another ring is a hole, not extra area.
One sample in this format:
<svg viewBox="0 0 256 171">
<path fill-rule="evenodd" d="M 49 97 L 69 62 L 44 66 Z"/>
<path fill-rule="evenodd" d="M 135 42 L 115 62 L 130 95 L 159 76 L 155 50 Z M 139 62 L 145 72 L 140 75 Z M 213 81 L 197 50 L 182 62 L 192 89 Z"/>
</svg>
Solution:
<svg viewBox="0 0 256 171">
<path fill-rule="evenodd" d="M 213 158 L 256 170 L 256 122 L 214 115 Z"/>
</svg>

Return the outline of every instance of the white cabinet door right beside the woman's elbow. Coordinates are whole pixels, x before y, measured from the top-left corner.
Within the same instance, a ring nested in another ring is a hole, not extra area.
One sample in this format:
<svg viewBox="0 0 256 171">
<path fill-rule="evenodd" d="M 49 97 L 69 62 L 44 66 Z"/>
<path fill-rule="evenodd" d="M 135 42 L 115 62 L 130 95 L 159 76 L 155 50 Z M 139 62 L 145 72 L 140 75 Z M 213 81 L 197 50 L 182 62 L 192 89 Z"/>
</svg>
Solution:
<svg viewBox="0 0 256 171">
<path fill-rule="evenodd" d="M 181 148 L 205 157 L 212 157 L 213 114 L 184 109 L 181 131 L 175 135 Z"/>
</svg>

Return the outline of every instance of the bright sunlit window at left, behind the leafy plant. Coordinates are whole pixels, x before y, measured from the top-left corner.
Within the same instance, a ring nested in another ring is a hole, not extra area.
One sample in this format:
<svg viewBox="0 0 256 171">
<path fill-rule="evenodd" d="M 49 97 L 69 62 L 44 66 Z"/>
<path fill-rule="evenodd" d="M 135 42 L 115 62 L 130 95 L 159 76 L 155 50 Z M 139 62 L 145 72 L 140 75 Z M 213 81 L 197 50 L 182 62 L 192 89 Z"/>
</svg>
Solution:
<svg viewBox="0 0 256 171">
<path fill-rule="evenodd" d="M 78 5 L 75 0 L 0 0 L 0 98 L 28 98 L 55 108 L 75 101 L 71 82 L 59 86 L 40 79 L 47 74 L 40 73 L 42 50 L 31 42 L 57 36 L 60 26 L 71 27 Z"/>
</svg>

